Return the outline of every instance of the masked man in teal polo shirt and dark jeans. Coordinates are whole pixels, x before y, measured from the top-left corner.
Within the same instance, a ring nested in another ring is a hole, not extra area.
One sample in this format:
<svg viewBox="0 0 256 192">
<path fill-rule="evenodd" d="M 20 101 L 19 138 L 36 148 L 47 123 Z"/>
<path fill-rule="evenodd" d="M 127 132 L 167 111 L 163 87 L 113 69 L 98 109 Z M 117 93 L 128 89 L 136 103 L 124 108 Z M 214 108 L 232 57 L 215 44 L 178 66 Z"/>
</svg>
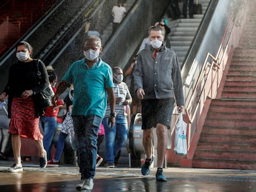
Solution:
<svg viewBox="0 0 256 192">
<path fill-rule="evenodd" d="M 116 121 L 113 71 L 99 58 L 101 50 L 100 38 L 88 36 L 83 48 L 85 59 L 71 65 L 53 98 L 56 101 L 67 87 L 74 85 L 72 119 L 75 136 L 79 143 L 81 173 L 81 182 L 77 185 L 77 190 L 92 190 L 93 188 L 98 130 L 106 112 L 107 94 L 111 107 L 111 117 L 108 123 L 113 127 Z"/>
</svg>

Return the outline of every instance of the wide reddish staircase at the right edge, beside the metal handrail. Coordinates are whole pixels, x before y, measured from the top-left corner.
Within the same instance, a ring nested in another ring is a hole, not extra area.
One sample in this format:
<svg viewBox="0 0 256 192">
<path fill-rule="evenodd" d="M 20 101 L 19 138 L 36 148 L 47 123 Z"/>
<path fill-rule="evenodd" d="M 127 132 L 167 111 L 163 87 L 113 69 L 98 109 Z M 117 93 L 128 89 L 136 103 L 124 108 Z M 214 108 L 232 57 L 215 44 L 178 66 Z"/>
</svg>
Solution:
<svg viewBox="0 0 256 192">
<path fill-rule="evenodd" d="M 234 51 L 220 99 L 213 99 L 192 167 L 256 170 L 256 3 Z"/>
</svg>

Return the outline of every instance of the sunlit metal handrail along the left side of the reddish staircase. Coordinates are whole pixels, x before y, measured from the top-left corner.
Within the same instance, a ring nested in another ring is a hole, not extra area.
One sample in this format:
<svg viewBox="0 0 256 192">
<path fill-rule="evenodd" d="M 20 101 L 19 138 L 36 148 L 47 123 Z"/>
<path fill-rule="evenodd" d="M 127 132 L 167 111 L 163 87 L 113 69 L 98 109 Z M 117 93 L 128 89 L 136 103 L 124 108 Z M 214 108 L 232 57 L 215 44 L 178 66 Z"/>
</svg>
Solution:
<svg viewBox="0 0 256 192">
<path fill-rule="evenodd" d="M 207 98 L 216 98 L 216 94 L 221 83 L 221 78 L 223 77 L 224 69 L 226 67 L 229 43 L 232 41 L 232 35 L 230 34 L 233 30 L 232 24 L 233 22 L 231 18 L 228 23 L 230 28 L 228 27 L 229 30 L 226 30 L 223 34 L 223 39 L 221 40 L 216 56 L 213 56 L 210 54 L 210 52 L 208 52 L 207 56 L 205 57 L 197 83 L 194 86 L 194 90 L 192 91 L 189 102 L 186 106 L 186 115 L 190 122 L 188 125 L 190 126 L 190 133 L 187 136 L 188 150 L 197 127 L 198 119 L 202 114 L 203 106 L 205 106 L 205 101 Z M 211 62 L 209 62 L 209 59 Z M 192 126 L 194 130 L 191 129 Z"/>
</svg>

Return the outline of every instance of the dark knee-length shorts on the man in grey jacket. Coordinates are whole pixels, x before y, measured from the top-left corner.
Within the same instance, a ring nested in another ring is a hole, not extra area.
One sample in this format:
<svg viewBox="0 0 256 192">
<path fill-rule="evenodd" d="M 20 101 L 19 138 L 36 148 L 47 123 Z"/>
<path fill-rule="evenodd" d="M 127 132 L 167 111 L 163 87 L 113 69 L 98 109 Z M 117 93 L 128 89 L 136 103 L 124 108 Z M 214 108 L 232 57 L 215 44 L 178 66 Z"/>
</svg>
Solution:
<svg viewBox="0 0 256 192">
<path fill-rule="evenodd" d="M 171 126 L 174 98 L 142 100 L 142 129 L 156 127 L 157 123 Z"/>
</svg>

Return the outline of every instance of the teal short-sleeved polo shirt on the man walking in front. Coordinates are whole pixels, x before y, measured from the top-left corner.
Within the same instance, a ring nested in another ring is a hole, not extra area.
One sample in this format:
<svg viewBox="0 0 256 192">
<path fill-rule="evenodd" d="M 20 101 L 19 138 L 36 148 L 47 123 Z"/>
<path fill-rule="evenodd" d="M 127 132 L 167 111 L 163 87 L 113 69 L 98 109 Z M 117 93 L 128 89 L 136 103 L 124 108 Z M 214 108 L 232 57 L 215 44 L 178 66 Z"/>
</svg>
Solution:
<svg viewBox="0 0 256 192">
<path fill-rule="evenodd" d="M 72 115 L 98 115 L 106 112 L 106 88 L 113 88 L 113 71 L 100 58 L 89 69 L 85 59 L 74 62 L 62 80 L 74 85 Z"/>
</svg>

